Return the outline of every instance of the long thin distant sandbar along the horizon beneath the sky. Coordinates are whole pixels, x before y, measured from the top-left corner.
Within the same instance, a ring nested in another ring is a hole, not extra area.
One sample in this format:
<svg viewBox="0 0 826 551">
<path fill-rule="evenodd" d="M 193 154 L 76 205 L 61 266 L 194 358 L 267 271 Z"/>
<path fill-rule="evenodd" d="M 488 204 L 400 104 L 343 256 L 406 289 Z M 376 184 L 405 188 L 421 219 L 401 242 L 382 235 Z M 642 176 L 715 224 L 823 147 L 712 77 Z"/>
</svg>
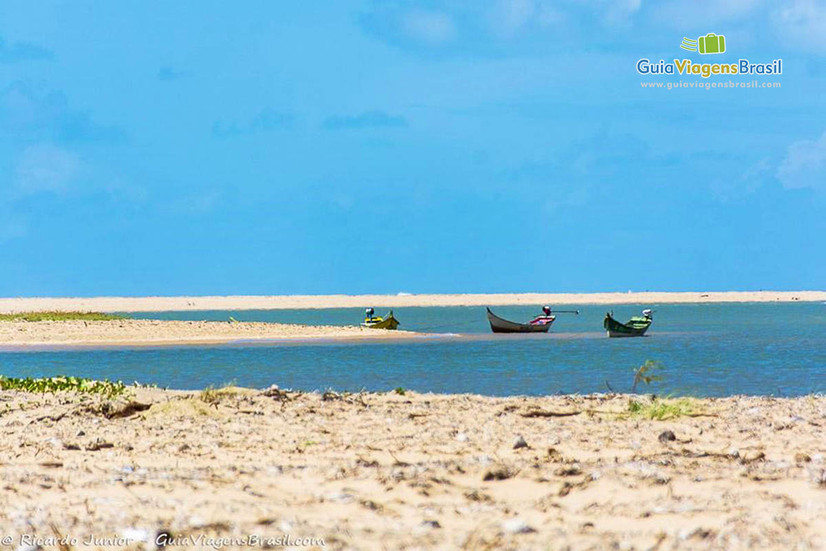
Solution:
<svg viewBox="0 0 826 551">
<path fill-rule="evenodd" d="M 461 295 L 292 295 L 275 297 L 0 298 L 0 313 L 48 310 L 168 311 L 512 304 L 667 304 L 686 302 L 822 302 L 826 291 L 499 293 Z"/>
</svg>

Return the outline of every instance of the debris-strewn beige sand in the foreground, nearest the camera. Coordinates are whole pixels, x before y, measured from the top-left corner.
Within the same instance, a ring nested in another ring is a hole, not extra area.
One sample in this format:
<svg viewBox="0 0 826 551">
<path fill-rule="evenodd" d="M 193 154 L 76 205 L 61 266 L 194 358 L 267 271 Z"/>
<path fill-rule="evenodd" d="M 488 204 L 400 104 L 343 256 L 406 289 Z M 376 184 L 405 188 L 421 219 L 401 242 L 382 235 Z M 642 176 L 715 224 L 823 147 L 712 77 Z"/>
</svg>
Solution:
<svg viewBox="0 0 826 551">
<path fill-rule="evenodd" d="M 608 413 L 628 396 L 133 399 L 144 406 L 0 392 L 0 534 L 13 538 L 0 549 L 21 534 L 130 549 L 153 549 L 159 533 L 376 550 L 826 541 L 824 397 L 705 400 L 704 416 L 675 420 Z"/>
</svg>

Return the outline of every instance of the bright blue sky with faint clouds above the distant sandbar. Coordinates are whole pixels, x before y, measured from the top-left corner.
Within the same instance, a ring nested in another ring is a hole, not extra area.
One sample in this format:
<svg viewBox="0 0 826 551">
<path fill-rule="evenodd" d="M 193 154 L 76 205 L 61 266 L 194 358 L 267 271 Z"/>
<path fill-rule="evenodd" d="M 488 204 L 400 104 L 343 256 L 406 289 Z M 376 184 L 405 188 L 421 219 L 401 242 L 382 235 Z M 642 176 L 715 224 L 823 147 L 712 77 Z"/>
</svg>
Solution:
<svg viewBox="0 0 826 551">
<path fill-rule="evenodd" d="M 813 0 L 3 2 L 0 296 L 822 289 L 824 88 Z"/>
</svg>

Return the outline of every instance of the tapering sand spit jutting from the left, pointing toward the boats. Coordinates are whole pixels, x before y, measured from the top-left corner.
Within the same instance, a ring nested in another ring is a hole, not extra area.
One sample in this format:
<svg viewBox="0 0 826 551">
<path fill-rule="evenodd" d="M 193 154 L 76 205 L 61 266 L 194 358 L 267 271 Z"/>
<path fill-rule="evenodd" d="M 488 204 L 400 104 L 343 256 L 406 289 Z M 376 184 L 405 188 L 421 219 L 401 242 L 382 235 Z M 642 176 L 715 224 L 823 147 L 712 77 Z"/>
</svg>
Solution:
<svg viewBox="0 0 826 551">
<path fill-rule="evenodd" d="M 406 339 L 422 335 L 411 331 L 363 329 L 358 326 L 288 325 L 251 321 L 0 321 L 0 346 Z"/>
</svg>

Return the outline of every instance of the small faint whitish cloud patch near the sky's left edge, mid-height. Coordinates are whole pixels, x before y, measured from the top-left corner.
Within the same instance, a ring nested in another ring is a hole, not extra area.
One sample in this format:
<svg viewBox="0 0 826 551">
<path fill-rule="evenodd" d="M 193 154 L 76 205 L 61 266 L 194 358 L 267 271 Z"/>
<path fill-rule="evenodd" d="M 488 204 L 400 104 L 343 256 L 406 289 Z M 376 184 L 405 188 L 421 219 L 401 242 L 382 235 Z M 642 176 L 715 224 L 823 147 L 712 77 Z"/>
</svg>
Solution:
<svg viewBox="0 0 826 551">
<path fill-rule="evenodd" d="M 17 187 L 26 193 L 63 191 L 79 169 L 76 154 L 54 145 L 32 145 L 23 150 L 17 162 Z"/>
</svg>

